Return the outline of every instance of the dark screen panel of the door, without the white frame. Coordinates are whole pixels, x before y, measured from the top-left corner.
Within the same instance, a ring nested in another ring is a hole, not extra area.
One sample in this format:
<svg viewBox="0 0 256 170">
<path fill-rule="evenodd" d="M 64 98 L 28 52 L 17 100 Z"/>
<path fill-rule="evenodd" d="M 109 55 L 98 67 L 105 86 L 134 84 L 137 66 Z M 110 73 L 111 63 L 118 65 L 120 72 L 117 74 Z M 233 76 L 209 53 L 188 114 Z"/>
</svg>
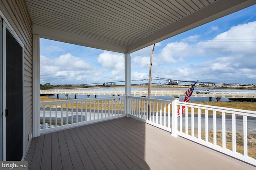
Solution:
<svg viewBox="0 0 256 170">
<path fill-rule="evenodd" d="M 6 29 L 6 160 L 23 152 L 23 49 Z"/>
</svg>

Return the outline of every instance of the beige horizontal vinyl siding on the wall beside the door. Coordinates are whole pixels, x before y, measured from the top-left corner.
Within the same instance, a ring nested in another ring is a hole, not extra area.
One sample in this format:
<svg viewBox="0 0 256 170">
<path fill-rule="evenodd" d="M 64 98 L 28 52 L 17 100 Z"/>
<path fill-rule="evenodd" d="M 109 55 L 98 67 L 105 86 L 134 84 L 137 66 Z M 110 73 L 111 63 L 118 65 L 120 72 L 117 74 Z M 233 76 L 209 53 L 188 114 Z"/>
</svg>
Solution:
<svg viewBox="0 0 256 170">
<path fill-rule="evenodd" d="M 25 154 L 32 133 L 32 22 L 24 0 L 0 0 L 0 10 L 24 44 L 24 144 Z"/>
</svg>

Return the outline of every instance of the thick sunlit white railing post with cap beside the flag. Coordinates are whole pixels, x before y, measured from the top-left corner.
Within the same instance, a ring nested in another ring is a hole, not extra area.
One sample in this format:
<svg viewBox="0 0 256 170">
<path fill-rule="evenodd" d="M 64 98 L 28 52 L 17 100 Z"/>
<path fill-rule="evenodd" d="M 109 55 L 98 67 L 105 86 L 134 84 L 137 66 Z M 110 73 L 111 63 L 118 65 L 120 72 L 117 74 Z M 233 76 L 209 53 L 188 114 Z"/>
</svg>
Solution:
<svg viewBox="0 0 256 170">
<path fill-rule="evenodd" d="M 178 132 L 178 106 L 177 98 L 172 98 L 172 133 L 171 136 L 177 137 Z"/>
</svg>

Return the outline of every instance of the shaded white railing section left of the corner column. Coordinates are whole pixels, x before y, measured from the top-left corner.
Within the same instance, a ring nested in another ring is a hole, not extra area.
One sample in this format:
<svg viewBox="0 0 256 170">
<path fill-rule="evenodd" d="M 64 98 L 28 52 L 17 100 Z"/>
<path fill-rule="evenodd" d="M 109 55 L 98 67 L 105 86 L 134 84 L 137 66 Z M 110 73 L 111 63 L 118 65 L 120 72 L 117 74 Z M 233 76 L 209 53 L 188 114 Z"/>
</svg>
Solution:
<svg viewBox="0 0 256 170">
<path fill-rule="evenodd" d="M 40 103 L 40 133 L 124 117 L 126 97 L 103 97 Z M 51 125 L 51 126 L 50 126 Z"/>
</svg>

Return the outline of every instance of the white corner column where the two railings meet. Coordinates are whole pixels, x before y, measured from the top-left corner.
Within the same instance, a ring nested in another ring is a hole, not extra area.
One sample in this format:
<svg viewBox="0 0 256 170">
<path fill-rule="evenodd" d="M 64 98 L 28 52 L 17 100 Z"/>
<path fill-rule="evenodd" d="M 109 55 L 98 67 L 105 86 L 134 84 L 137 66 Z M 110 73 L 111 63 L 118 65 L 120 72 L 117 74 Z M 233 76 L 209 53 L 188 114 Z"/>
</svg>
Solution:
<svg viewBox="0 0 256 170">
<path fill-rule="evenodd" d="M 124 76 L 125 76 L 125 95 L 126 95 L 126 105 L 124 108 L 124 111 L 126 113 L 126 116 L 130 114 L 130 99 L 128 99 L 128 96 L 131 95 L 131 57 L 130 53 L 124 54 Z"/>
</svg>

